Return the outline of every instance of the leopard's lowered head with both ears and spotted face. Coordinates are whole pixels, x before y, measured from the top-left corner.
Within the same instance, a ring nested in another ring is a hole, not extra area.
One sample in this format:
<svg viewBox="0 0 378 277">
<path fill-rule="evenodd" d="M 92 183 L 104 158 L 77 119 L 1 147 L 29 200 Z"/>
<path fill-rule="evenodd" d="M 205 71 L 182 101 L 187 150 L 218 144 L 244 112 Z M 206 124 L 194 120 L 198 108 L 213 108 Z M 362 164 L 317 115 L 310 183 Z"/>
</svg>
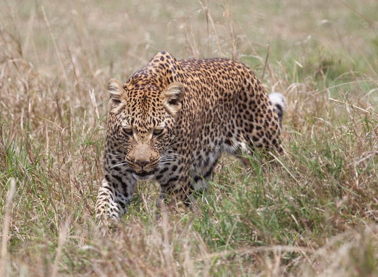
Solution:
<svg viewBox="0 0 378 277">
<path fill-rule="evenodd" d="M 111 139 L 122 149 L 128 170 L 146 179 L 163 167 L 160 159 L 169 154 L 185 96 L 184 85 L 173 82 L 161 90 L 148 84 L 122 86 L 111 79 L 108 92 Z"/>
</svg>

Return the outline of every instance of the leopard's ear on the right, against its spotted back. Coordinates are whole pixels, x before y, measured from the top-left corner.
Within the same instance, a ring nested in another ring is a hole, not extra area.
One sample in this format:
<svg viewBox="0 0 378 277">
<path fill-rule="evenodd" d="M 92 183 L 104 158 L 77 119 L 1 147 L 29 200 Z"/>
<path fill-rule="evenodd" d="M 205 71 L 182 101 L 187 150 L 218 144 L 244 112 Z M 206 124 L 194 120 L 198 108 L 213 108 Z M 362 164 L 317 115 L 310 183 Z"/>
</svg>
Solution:
<svg viewBox="0 0 378 277">
<path fill-rule="evenodd" d="M 161 92 L 163 105 L 173 116 L 183 107 L 184 96 L 185 87 L 179 82 L 169 84 L 164 91 Z"/>
</svg>

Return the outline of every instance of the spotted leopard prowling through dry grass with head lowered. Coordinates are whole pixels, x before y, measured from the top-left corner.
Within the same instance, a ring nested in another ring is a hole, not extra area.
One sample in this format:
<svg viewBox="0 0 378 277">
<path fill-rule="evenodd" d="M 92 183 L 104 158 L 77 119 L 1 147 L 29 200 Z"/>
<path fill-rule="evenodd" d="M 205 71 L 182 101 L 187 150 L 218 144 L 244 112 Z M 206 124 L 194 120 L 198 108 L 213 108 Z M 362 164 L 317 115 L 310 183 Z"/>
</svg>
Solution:
<svg viewBox="0 0 378 277">
<path fill-rule="evenodd" d="M 242 62 L 176 60 L 163 51 L 126 83 L 111 79 L 107 90 L 99 225 L 127 213 L 138 181 L 159 184 L 158 207 L 168 197 L 187 204 L 207 190 L 221 154 L 283 153 L 284 96 L 268 95 Z"/>
</svg>

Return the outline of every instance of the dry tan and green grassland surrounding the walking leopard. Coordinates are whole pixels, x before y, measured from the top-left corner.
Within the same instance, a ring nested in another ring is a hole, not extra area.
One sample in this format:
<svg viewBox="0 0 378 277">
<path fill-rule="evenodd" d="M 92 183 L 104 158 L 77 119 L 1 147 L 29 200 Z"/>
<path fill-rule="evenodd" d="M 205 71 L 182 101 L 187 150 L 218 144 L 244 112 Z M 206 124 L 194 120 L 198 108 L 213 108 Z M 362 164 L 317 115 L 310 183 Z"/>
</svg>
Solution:
<svg viewBox="0 0 378 277">
<path fill-rule="evenodd" d="M 378 1 L 0 3 L 0 276 L 377 276 Z M 110 78 L 156 52 L 248 64 L 286 155 L 224 157 L 197 209 L 140 184 L 93 222 Z M 13 197 L 12 197 L 13 196 Z"/>
</svg>

